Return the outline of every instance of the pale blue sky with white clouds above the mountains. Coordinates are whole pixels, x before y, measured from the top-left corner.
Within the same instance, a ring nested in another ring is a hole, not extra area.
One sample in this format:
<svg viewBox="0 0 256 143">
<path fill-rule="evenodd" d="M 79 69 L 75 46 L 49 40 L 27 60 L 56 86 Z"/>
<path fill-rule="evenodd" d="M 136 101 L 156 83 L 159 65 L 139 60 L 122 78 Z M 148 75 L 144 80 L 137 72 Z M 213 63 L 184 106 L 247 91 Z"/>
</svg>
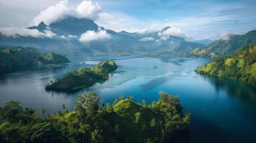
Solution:
<svg viewBox="0 0 256 143">
<path fill-rule="evenodd" d="M 79 8 L 78 8 L 79 7 Z M 256 0 L 0 0 L 0 28 L 51 23 L 72 15 L 115 31 L 171 26 L 190 39 L 220 39 L 256 29 Z"/>
</svg>

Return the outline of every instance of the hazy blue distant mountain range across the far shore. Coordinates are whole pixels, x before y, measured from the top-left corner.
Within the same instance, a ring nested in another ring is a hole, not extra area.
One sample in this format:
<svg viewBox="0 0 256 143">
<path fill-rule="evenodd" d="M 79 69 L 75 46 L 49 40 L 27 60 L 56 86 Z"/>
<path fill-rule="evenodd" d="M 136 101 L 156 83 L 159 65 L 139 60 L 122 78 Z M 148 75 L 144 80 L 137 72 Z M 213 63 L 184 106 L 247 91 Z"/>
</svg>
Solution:
<svg viewBox="0 0 256 143">
<path fill-rule="evenodd" d="M 38 26 L 27 28 L 38 30 L 43 34 L 41 37 L 6 36 L 6 34 L 0 33 L 0 44 L 34 46 L 43 51 L 54 51 L 66 55 L 128 55 L 155 51 L 180 53 L 201 49 L 210 42 L 186 41 L 178 36 L 163 34 L 169 28 L 167 26 L 161 31 L 145 34 L 115 32 L 98 26 L 90 19 L 70 17 L 49 25 L 42 21 Z M 95 36 L 95 39 L 90 39 L 86 35 Z"/>
</svg>

